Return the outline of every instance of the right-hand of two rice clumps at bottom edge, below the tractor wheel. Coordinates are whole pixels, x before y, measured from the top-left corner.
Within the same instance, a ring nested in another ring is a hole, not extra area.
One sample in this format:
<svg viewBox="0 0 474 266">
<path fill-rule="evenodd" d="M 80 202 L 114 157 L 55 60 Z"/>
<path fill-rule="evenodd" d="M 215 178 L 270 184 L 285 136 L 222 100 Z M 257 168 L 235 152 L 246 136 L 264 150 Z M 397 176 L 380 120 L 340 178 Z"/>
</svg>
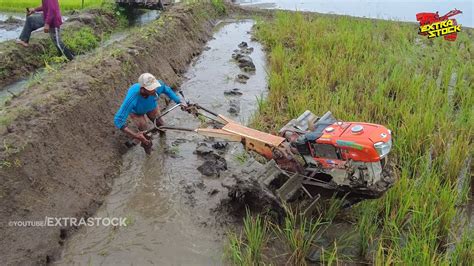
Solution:
<svg viewBox="0 0 474 266">
<path fill-rule="evenodd" d="M 290 250 L 288 263 L 306 265 L 306 256 L 323 225 L 322 218 L 308 219 L 300 216 L 296 210 L 286 207 L 283 225 L 274 225 L 274 231 Z"/>
</svg>

